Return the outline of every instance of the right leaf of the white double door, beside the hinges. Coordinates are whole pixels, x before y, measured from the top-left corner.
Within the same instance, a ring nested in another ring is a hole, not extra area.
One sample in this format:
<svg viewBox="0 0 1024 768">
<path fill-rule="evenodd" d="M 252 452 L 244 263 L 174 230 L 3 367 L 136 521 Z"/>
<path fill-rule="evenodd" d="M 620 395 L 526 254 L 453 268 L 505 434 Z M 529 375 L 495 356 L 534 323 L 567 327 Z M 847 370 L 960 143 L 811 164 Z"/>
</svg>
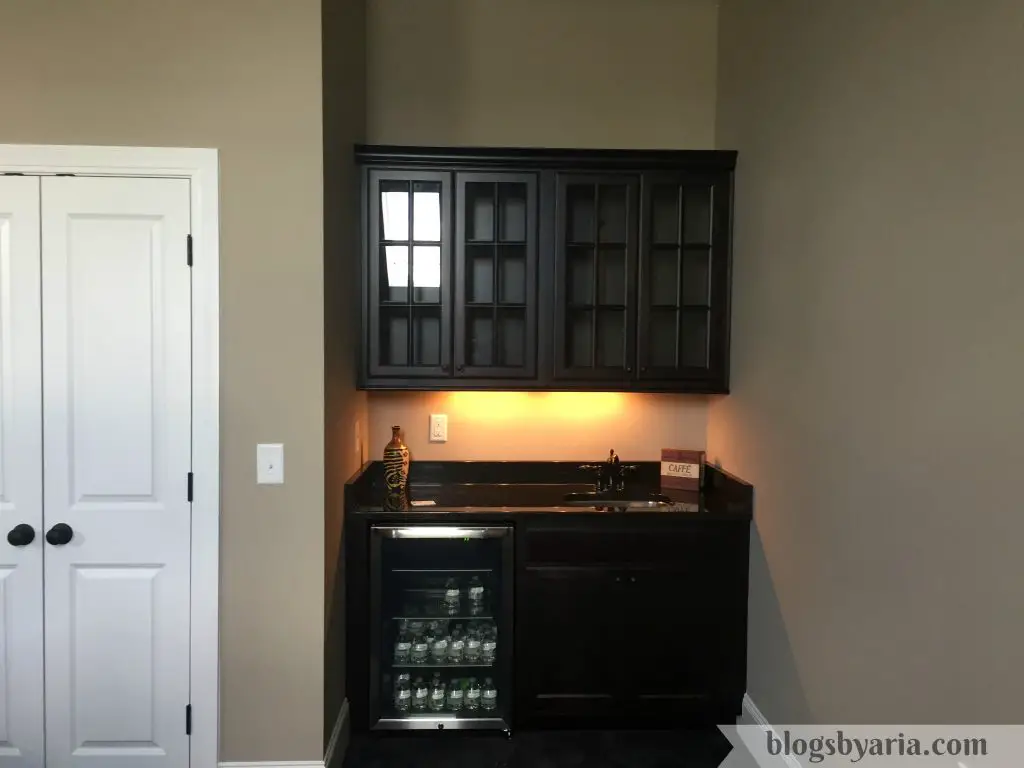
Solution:
<svg viewBox="0 0 1024 768">
<path fill-rule="evenodd" d="M 46 765 L 189 763 L 189 181 L 42 183 Z"/>
</svg>

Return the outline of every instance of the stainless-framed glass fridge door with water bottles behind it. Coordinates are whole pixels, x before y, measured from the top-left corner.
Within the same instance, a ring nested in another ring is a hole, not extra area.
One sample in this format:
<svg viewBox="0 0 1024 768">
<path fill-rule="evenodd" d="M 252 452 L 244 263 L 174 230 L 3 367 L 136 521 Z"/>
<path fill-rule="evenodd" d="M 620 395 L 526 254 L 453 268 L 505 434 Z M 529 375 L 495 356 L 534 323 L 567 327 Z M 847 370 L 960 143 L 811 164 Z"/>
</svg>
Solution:
<svg viewBox="0 0 1024 768">
<path fill-rule="evenodd" d="M 507 730 L 512 528 L 372 531 L 372 727 Z"/>
</svg>

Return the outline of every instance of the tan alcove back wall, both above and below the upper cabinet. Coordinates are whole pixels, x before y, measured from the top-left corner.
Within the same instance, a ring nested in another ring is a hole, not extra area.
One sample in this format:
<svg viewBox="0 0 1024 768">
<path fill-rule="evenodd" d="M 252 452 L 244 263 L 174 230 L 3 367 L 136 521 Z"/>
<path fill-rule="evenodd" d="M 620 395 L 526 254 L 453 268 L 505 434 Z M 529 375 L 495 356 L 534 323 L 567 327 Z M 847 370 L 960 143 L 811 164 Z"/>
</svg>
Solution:
<svg viewBox="0 0 1024 768">
<path fill-rule="evenodd" d="M 714 146 L 717 13 L 714 0 L 374 0 L 367 138 Z M 467 404 L 471 397 L 371 393 L 370 457 L 380 456 L 392 423 L 408 425 L 414 455 L 439 460 L 574 460 L 612 446 L 624 459 L 644 459 L 657 458 L 662 445 L 705 440 L 702 398 L 614 395 L 595 409 L 600 394 L 475 397 Z M 496 408 L 529 416 L 536 427 L 496 416 Z M 582 416 L 588 408 L 590 419 Z M 449 414 L 445 445 L 425 440 L 432 409 Z"/>
</svg>

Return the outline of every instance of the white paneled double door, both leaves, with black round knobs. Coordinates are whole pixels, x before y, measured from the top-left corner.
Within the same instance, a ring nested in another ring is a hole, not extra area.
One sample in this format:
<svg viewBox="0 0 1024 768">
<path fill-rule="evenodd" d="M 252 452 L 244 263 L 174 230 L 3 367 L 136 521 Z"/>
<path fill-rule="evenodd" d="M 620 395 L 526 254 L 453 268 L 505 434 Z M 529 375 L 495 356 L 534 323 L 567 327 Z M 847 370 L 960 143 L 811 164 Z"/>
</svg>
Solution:
<svg viewBox="0 0 1024 768">
<path fill-rule="evenodd" d="M 0 176 L 0 768 L 188 765 L 188 231 L 186 179 Z"/>
</svg>

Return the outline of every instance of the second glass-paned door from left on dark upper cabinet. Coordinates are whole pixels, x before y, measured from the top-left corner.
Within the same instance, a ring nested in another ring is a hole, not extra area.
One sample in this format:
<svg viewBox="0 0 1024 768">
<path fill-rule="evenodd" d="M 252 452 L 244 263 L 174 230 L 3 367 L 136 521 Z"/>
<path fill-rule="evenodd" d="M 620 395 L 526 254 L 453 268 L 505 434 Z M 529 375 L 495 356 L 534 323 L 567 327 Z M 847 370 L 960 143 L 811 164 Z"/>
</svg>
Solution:
<svg viewBox="0 0 1024 768">
<path fill-rule="evenodd" d="M 537 176 L 456 176 L 455 375 L 537 376 Z"/>
</svg>

